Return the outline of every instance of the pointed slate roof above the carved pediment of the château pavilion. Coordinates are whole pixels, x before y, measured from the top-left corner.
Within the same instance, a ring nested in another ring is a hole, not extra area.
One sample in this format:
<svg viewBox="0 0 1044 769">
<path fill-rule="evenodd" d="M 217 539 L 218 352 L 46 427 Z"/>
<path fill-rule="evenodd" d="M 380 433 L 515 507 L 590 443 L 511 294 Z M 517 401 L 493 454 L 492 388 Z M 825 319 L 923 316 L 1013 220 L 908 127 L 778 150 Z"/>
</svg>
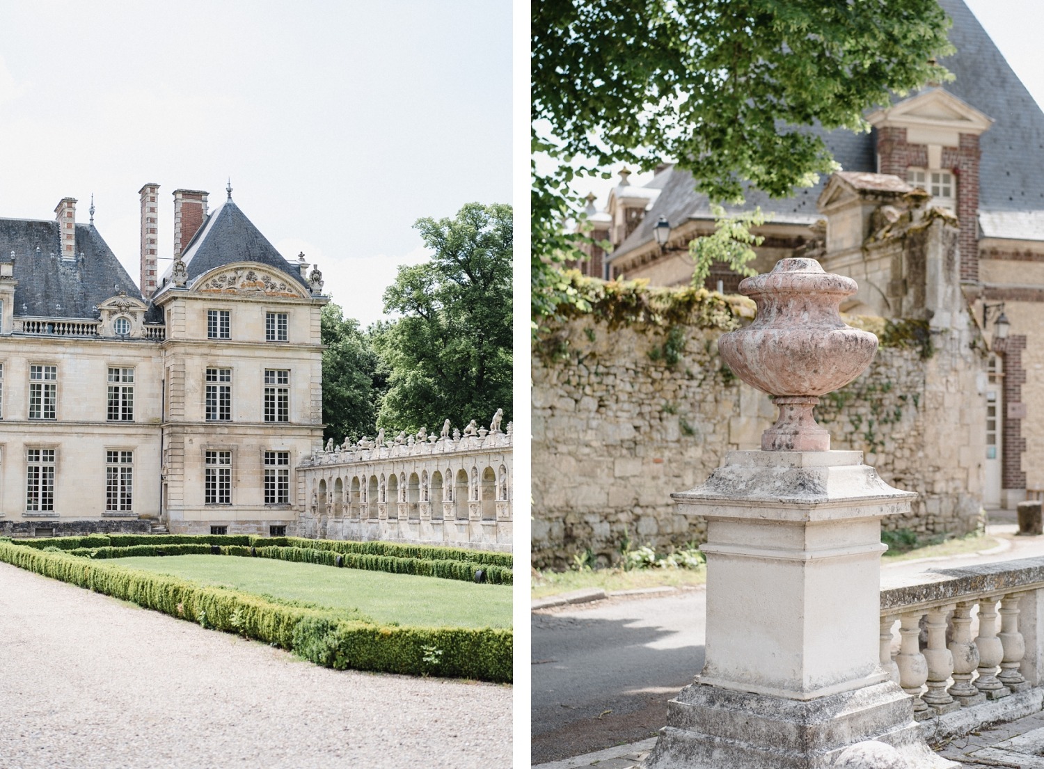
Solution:
<svg viewBox="0 0 1044 769">
<path fill-rule="evenodd" d="M 189 271 L 189 282 L 204 272 L 234 262 L 258 262 L 286 272 L 302 286 L 308 283 L 301 277 L 298 265 L 288 262 L 268 242 L 254 222 L 246 218 L 230 197 L 216 212 L 209 214 L 182 255 Z M 164 279 L 170 278 L 173 265 L 167 268 Z M 163 284 L 165 281 L 161 281 Z M 309 289 L 310 290 L 310 289 Z"/>
</svg>

